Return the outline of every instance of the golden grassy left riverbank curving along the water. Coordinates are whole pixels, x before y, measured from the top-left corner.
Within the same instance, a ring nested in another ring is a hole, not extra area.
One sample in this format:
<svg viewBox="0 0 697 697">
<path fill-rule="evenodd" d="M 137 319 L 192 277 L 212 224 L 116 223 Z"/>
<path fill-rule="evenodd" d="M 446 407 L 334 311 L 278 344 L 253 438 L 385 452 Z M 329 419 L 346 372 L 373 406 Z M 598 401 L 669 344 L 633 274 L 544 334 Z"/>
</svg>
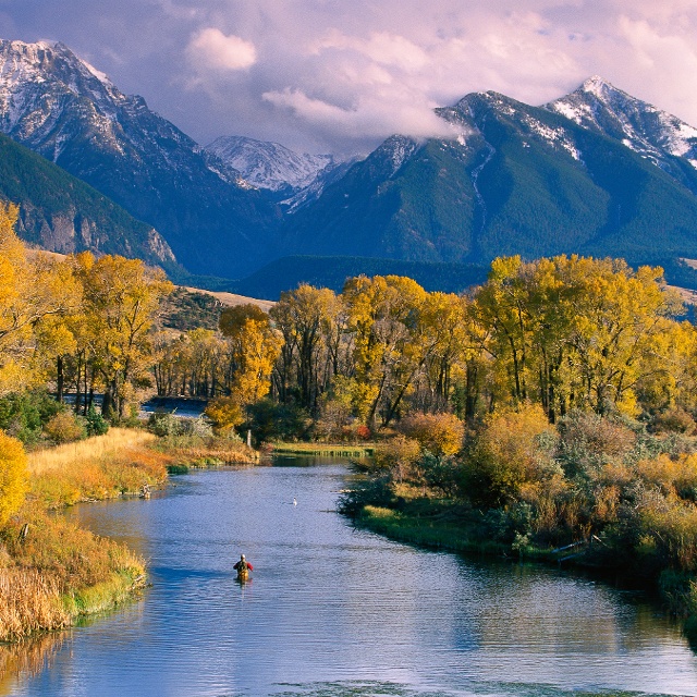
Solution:
<svg viewBox="0 0 697 697">
<path fill-rule="evenodd" d="M 51 512 L 78 502 L 147 498 L 168 470 L 253 463 L 258 454 L 229 439 L 160 438 L 143 429 L 28 454 L 23 508 L 0 530 L 0 641 L 75 624 L 145 587 L 145 561 Z"/>
</svg>

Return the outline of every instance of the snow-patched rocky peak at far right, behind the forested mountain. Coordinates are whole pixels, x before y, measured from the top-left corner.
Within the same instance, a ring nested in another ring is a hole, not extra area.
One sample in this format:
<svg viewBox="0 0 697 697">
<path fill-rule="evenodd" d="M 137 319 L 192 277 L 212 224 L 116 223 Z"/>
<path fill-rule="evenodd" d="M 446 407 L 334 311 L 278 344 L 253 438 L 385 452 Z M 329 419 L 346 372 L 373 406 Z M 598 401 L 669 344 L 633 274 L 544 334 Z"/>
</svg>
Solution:
<svg viewBox="0 0 697 697">
<path fill-rule="evenodd" d="M 632 97 L 597 75 L 578 89 L 545 105 L 584 129 L 598 131 L 670 170 L 667 155 L 697 169 L 697 129 Z"/>
</svg>

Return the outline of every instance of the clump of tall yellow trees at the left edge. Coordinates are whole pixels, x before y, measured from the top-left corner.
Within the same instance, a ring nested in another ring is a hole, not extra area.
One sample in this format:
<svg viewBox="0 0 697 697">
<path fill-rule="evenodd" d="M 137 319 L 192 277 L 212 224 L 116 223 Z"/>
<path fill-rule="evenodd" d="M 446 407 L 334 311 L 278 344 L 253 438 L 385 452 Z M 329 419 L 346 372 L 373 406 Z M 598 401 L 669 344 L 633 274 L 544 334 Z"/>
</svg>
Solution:
<svg viewBox="0 0 697 697">
<path fill-rule="evenodd" d="M 17 395 L 51 386 L 58 402 L 74 394 L 76 412 L 94 412 L 99 392 L 102 414 L 124 418 L 151 382 L 150 329 L 172 284 L 137 259 L 29 250 L 16 217 L 0 206 L 0 416 L 11 420 Z M 26 419 L 21 408 L 14 416 Z"/>
</svg>

